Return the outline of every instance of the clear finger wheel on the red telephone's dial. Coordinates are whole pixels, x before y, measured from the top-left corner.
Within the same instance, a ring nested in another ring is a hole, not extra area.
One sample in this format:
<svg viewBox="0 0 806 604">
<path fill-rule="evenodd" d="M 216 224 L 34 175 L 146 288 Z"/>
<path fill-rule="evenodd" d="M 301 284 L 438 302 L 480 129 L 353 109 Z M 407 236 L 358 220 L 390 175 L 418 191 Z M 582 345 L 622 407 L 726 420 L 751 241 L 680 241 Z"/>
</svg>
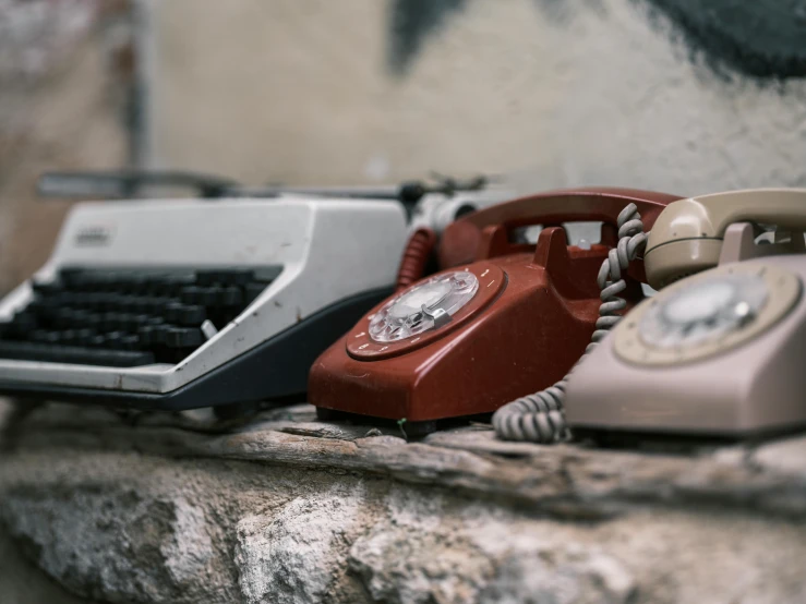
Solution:
<svg viewBox="0 0 806 604">
<path fill-rule="evenodd" d="M 450 316 L 472 300 L 479 279 L 457 270 L 432 277 L 387 302 L 370 322 L 370 337 L 394 342 L 449 323 Z"/>
</svg>

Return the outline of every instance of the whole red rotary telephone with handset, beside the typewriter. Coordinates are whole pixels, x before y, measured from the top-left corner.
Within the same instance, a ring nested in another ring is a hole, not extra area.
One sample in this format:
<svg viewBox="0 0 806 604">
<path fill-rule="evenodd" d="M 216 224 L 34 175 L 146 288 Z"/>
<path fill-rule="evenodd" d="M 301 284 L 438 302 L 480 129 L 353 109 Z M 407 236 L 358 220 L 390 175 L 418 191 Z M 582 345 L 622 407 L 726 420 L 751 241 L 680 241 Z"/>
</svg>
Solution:
<svg viewBox="0 0 806 604">
<path fill-rule="evenodd" d="M 679 198 L 552 191 L 458 219 L 442 234 L 441 271 L 373 309 L 314 363 L 311 402 L 323 416 L 406 420 L 411 434 L 553 384 L 590 339 L 601 305 L 597 275 L 615 253 L 619 227 L 640 231 L 639 215 L 651 226 Z M 601 242 L 568 245 L 560 225 L 573 221 L 602 221 Z M 537 244 L 518 242 L 517 229 L 533 225 L 543 226 Z M 640 264 L 629 273 L 636 279 L 625 281 L 624 306 L 642 298 Z"/>
</svg>

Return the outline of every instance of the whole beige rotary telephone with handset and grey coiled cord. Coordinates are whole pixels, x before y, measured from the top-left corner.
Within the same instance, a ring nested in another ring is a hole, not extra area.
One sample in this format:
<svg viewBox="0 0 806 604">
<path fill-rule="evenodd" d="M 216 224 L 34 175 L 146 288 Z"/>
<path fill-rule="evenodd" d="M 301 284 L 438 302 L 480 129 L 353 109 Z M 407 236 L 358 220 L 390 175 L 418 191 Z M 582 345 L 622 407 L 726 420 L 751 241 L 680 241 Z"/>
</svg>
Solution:
<svg viewBox="0 0 806 604">
<path fill-rule="evenodd" d="M 613 327 L 607 338 L 554 389 L 502 408 L 500 435 L 551 442 L 567 424 L 575 436 L 735 438 L 806 426 L 804 231 L 803 189 L 671 203 L 648 238 L 622 244 L 633 256 L 643 249 L 647 281 L 661 291 L 622 321 L 602 313 L 594 340 Z M 626 255 L 603 266 L 602 309 L 618 300 L 607 288 Z"/>
</svg>

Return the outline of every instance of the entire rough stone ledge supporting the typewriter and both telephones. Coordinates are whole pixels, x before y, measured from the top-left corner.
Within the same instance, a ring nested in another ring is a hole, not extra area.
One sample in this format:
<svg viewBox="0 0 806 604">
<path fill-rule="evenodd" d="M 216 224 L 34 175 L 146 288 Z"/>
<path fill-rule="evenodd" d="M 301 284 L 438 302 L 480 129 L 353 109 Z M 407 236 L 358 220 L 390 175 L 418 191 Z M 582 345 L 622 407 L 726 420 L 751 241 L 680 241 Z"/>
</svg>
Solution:
<svg viewBox="0 0 806 604">
<path fill-rule="evenodd" d="M 4 436 L 3 530 L 99 602 L 806 601 L 806 437 L 672 455 L 400 436 L 308 406 L 225 433 L 48 406 Z"/>
</svg>

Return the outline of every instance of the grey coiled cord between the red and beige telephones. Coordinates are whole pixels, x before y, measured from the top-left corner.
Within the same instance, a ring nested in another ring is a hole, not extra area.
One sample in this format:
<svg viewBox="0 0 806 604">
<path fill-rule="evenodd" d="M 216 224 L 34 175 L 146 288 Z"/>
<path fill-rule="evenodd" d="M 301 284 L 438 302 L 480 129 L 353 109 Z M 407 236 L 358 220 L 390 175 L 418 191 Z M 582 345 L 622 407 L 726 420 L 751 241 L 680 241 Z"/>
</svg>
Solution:
<svg viewBox="0 0 806 604">
<path fill-rule="evenodd" d="M 618 244 L 610 251 L 597 277 L 599 289 L 602 290 L 602 304 L 599 306 L 599 318 L 590 343 L 563 379 L 545 390 L 508 402 L 493 414 L 493 427 L 498 438 L 542 444 L 570 439 L 570 430 L 563 410 L 568 377 L 622 319 L 617 313 L 627 306 L 627 301 L 618 297 L 627 288 L 622 273 L 627 270 L 629 263 L 647 246 L 648 233 L 643 232 L 643 222 L 635 204 L 629 204 L 618 214 L 616 225 Z"/>
</svg>

